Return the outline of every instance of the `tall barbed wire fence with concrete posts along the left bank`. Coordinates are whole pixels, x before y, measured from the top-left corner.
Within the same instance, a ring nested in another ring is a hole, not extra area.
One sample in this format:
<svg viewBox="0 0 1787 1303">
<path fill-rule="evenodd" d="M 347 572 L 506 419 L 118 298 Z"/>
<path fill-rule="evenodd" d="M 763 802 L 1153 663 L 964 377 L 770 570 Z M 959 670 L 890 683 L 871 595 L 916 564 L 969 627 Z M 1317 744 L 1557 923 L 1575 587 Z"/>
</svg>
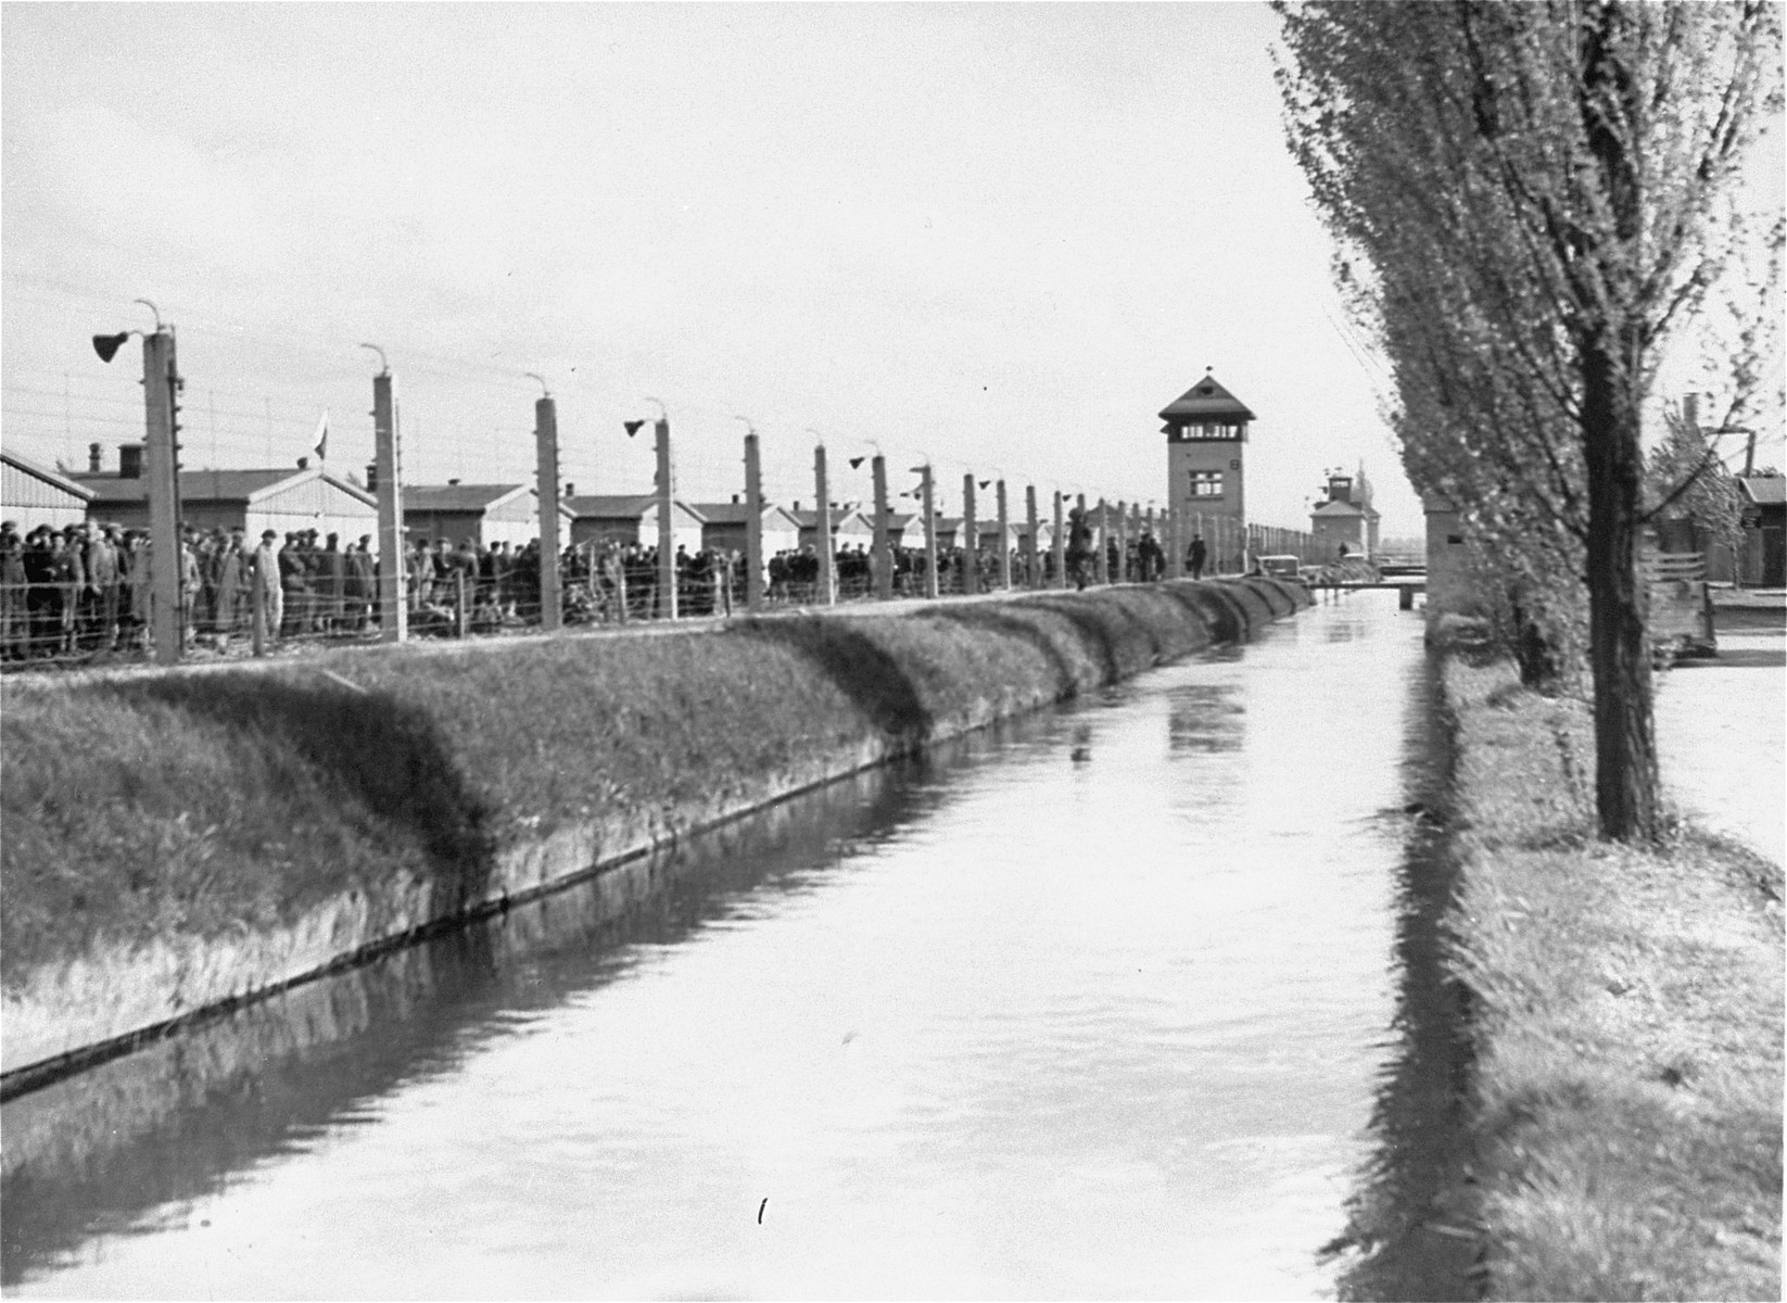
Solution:
<svg viewBox="0 0 1787 1303">
<path fill-rule="evenodd" d="M 14 273 L 7 282 L 9 297 L 23 297 L 71 338 L 100 313 L 118 315 L 114 297 L 91 290 Z M 145 404 L 154 404 L 155 386 L 132 379 L 129 368 L 7 366 L 0 420 L 9 449 L 29 445 L 55 465 L 57 477 L 95 493 L 80 520 L 45 508 L 43 520 L 18 520 L 18 533 L 0 540 L 0 660 L 7 668 L 152 654 L 214 660 L 404 636 L 727 618 L 877 597 L 1145 583 L 1185 570 L 1188 558 L 1172 558 L 1170 542 L 1194 536 L 1204 540 L 1206 576 L 1246 572 L 1265 552 L 1313 556 L 1313 540 L 1301 531 L 1219 511 L 1192 515 L 1188 506 L 1174 529 L 1158 500 L 1011 477 L 1003 467 L 935 456 L 886 431 L 817 431 L 784 413 L 759 424 L 724 400 L 675 393 L 663 404 L 629 400 L 575 377 L 570 397 L 583 434 L 558 440 L 558 399 L 550 388 L 545 406 L 540 399 L 547 379 L 409 349 L 393 349 L 397 366 L 381 372 L 386 384 L 397 370 L 406 384 L 411 375 L 422 381 L 391 397 L 390 431 L 375 431 L 390 447 L 375 449 L 365 465 L 341 467 L 340 454 L 329 461 L 327 443 L 334 436 L 340 449 L 343 436 L 363 431 L 357 416 L 345 415 L 365 402 L 361 345 L 327 332 L 273 334 L 197 304 L 163 307 L 207 363 L 213 354 L 234 357 L 241 375 L 257 354 L 263 366 L 277 354 L 279 372 L 295 379 L 254 386 L 202 374 L 188 382 L 170 368 L 179 533 L 166 549 L 175 556 L 173 579 L 157 590 L 150 576 L 159 574 L 161 540 L 147 527 L 154 486 L 136 492 L 123 483 L 132 477 L 130 461 L 141 474 L 141 454 L 130 449 L 145 441 Z M 157 309 L 157 331 L 159 320 Z M 148 334 L 136 332 L 148 347 Z M 166 347 L 172 357 L 172 331 Z M 436 388 L 449 397 L 432 395 Z M 456 406 L 450 395 L 468 390 L 484 402 Z M 533 422 L 520 404 L 529 393 Z M 515 416 L 484 420 L 491 399 Z M 549 449 L 541 449 L 545 424 L 552 425 Z M 154 443 L 154 420 L 147 425 Z M 747 436 L 761 461 L 756 488 L 745 465 L 752 456 Z M 397 468 L 395 484 L 379 483 L 386 458 Z M 195 461 L 202 468 L 188 468 Z M 659 474 L 663 463 L 668 475 Z M 563 504 L 558 529 L 541 529 L 538 509 L 511 520 L 461 511 L 450 522 L 438 511 L 406 511 L 402 493 L 420 497 L 422 490 L 404 467 L 425 468 L 431 492 L 525 486 L 518 497 L 529 508 L 541 500 L 545 483 L 547 497 Z M 547 481 L 538 474 L 543 467 L 554 468 Z M 311 492 L 293 493 L 289 509 L 256 499 L 277 499 L 281 484 L 311 470 Z M 261 488 L 245 488 L 243 477 L 256 474 Z M 590 492 L 617 484 L 636 492 Z M 30 509 L 9 502 L 7 517 Z M 1079 529 L 1072 527 L 1076 513 Z M 1076 538 L 1056 538 L 1056 518 Z M 543 538 L 552 534 L 556 547 Z M 400 584 L 390 583 L 386 552 L 400 556 Z M 752 552 L 756 576 L 747 565 Z M 175 647 L 155 645 L 163 601 L 177 608 L 164 635 Z"/>
</svg>

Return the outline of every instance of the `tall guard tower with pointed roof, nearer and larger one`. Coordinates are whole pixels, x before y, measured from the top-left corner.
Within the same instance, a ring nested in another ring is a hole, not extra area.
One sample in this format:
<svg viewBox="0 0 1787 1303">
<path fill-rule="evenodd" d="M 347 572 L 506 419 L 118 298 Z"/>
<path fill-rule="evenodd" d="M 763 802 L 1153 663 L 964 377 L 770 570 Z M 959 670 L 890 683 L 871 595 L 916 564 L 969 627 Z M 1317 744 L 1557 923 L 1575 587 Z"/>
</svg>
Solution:
<svg viewBox="0 0 1787 1303">
<path fill-rule="evenodd" d="M 1169 574 L 1179 574 L 1185 549 L 1201 527 L 1213 561 L 1246 563 L 1246 465 L 1247 422 L 1253 413 L 1224 390 L 1210 372 L 1176 402 L 1162 409 L 1167 422 L 1167 558 Z M 1228 552 L 1228 558 L 1221 554 Z"/>
</svg>

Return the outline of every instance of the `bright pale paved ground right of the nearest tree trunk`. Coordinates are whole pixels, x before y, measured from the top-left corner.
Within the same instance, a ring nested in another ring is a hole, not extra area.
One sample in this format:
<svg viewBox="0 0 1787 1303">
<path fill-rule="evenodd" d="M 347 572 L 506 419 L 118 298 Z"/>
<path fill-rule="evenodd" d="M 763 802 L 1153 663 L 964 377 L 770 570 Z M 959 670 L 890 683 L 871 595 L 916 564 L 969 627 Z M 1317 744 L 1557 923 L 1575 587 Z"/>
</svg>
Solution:
<svg viewBox="0 0 1787 1303">
<path fill-rule="evenodd" d="M 1707 828 L 1787 865 L 1787 636 L 1719 633 L 1658 679 L 1664 788 Z"/>
</svg>

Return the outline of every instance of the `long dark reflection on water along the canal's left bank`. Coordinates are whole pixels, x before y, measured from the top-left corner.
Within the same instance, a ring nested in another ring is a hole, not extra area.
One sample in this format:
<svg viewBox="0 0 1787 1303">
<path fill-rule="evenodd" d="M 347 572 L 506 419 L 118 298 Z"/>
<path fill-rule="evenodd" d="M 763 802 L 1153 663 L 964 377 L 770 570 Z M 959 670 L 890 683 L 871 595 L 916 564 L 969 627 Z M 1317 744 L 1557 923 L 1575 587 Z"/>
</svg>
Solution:
<svg viewBox="0 0 1787 1303">
<path fill-rule="evenodd" d="M 504 915 L 250 1005 L 9 1101 L 0 1285 L 95 1235 L 154 1230 L 259 1162 L 372 1121 L 540 1010 L 627 974 L 761 892 L 817 890 L 854 847 L 947 803 L 935 776 L 1022 724 L 840 779 Z"/>
</svg>

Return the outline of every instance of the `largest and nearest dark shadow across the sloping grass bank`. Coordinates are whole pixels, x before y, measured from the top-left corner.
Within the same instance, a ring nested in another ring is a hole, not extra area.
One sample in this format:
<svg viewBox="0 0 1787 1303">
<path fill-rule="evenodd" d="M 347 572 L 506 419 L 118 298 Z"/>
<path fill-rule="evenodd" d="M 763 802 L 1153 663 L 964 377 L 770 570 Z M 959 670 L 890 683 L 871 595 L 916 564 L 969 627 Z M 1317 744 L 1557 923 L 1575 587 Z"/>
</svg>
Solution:
<svg viewBox="0 0 1787 1303">
<path fill-rule="evenodd" d="M 420 845 L 436 874 L 436 908 L 482 897 L 493 867 L 490 811 L 466 786 L 436 724 L 416 706 L 323 679 L 275 674 L 166 676 L 113 688 L 125 702 L 161 704 L 289 751 L 338 808 Z M 277 772 L 277 769 L 275 769 Z M 245 794 L 245 817 L 254 808 Z"/>
</svg>

